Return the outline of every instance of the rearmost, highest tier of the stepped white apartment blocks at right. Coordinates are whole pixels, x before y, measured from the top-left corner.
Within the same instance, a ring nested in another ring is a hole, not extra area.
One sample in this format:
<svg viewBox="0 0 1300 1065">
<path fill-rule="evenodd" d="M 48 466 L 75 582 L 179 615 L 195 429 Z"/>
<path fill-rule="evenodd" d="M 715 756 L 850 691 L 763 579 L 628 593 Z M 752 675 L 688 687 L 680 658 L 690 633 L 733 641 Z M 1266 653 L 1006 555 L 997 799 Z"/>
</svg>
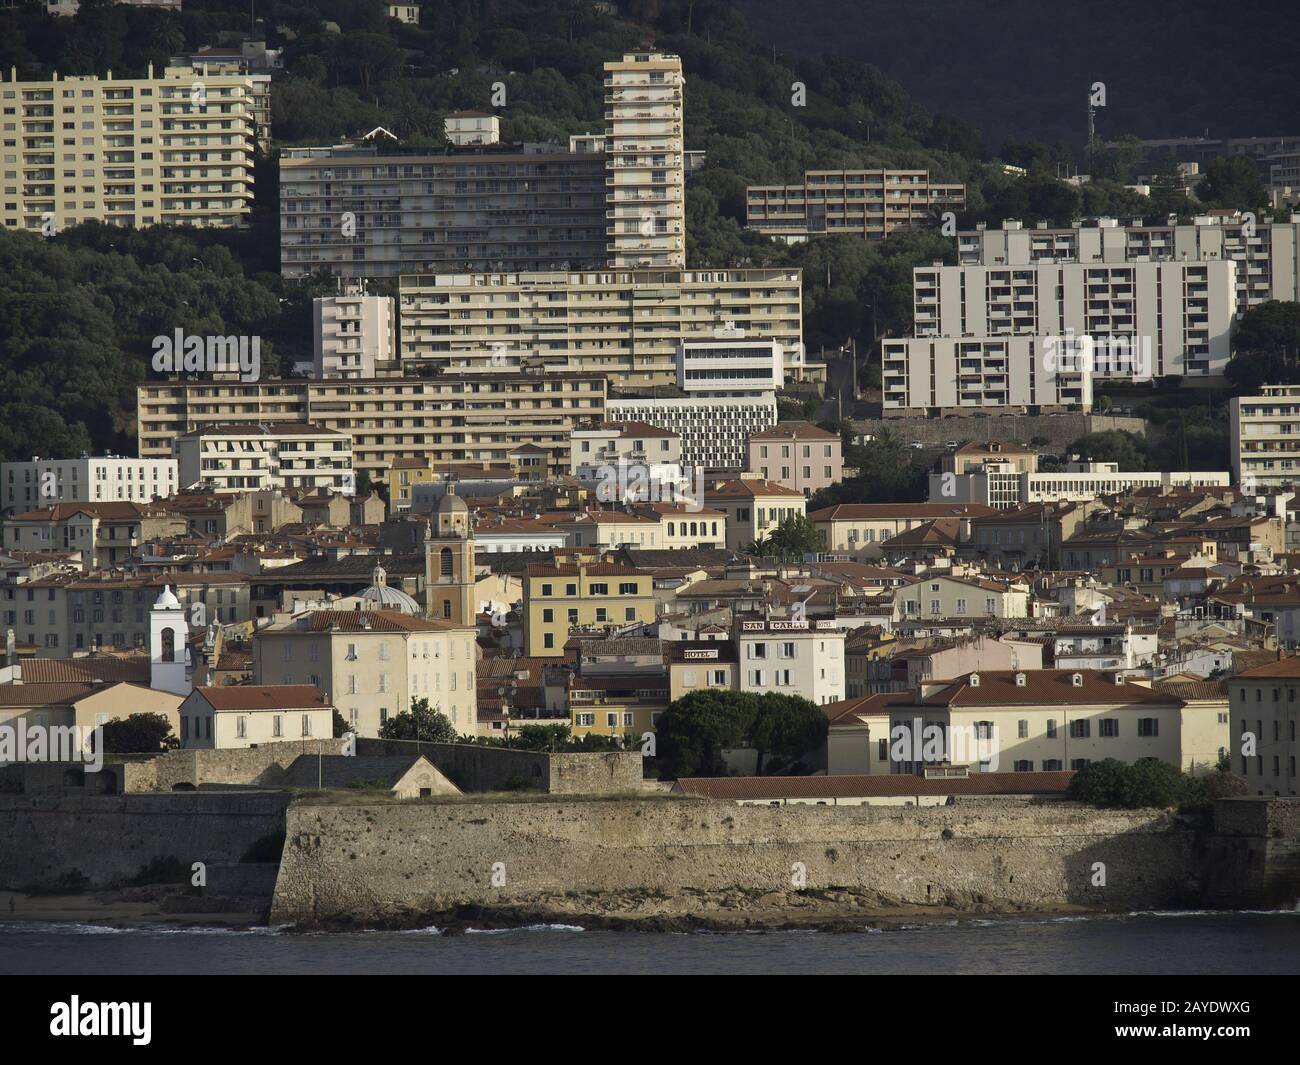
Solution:
<svg viewBox="0 0 1300 1065">
<path fill-rule="evenodd" d="M 1024 229 L 1009 220 L 1001 229 L 976 228 L 957 234 L 961 265 L 1223 259 L 1238 264 L 1238 312 L 1270 299 L 1300 300 L 1300 213 L 1286 222 L 1269 222 L 1247 218 L 1242 212 L 1218 212 L 1200 215 L 1190 225 L 1135 221 L 1124 226 L 1115 218 L 1098 218 L 1095 225 L 1080 222 L 1067 229 L 1052 229 L 1045 222 Z"/>
</svg>

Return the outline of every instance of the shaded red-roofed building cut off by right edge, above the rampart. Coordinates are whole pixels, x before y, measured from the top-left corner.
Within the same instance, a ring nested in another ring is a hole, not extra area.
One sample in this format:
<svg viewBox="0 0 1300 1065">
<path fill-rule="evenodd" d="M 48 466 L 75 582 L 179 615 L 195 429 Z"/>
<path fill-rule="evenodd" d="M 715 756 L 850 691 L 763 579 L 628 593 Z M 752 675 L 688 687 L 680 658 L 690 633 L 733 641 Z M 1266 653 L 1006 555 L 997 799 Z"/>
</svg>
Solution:
<svg viewBox="0 0 1300 1065">
<path fill-rule="evenodd" d="M 1296 724 L 1300 720 L 1300 658 L 1245 670 L 1228 684 L 1232 771 L 1254 795 L 1300 795 Z"/>
</svg>

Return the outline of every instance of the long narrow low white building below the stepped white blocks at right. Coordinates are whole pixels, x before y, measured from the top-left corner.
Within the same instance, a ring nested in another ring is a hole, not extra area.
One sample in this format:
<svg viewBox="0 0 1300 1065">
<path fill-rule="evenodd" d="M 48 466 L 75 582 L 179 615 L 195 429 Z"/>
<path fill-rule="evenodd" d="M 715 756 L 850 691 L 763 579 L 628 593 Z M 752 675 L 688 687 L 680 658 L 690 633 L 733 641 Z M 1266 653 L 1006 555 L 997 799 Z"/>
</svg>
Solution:
<svg viewBox="0 0 1300 1065">
<path fill-rule="evenodd" d="M 1227 471 L 1136 472 L 1113 462 L 1082 462 L 1066 463 L 1057 473 L 1022 473 L 1011 463 L 993 462 L 968 473 L 931 473 L 930 502 L 984 503 L 1006 510 L 1022 503 L 1087 503 L 1140 488 L 1226 488 L 1231 482 Z"/>
</svg>

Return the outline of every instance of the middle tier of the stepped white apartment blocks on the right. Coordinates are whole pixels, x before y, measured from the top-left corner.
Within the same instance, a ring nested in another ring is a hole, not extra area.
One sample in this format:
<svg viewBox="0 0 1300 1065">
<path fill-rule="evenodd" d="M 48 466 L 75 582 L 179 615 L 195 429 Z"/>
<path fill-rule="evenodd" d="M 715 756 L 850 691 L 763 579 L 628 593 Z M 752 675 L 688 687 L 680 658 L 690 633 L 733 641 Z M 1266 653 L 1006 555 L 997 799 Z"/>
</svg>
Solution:
<svg viewBox="0 0 1300 1065">
<path fill-rule="evenodd" d="M 1230 259 L 935 265 L 913 278 L 916 337 L 1089 338 L 1097 377 L 1218 378 L 1231 354 Z M 1106 345 L 1119 356 L 1102 358 Z"/>
</svg>

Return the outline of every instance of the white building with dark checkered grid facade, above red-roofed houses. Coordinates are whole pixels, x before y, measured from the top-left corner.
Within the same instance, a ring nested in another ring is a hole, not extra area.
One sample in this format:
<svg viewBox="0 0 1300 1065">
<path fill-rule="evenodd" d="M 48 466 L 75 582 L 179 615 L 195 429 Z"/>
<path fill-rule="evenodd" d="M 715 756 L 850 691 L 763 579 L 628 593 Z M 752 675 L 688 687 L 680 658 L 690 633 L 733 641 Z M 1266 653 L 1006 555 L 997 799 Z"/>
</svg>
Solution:
<svg viewBox="0 0 1300 1065">
<path fill-rule="evenodd" d="M 610 421 L 644 421 L 681 438 L 682 466 L 744 469 L 745 442 L 776 424 L 776 393 L 608 399 Z"/>
</svg>

